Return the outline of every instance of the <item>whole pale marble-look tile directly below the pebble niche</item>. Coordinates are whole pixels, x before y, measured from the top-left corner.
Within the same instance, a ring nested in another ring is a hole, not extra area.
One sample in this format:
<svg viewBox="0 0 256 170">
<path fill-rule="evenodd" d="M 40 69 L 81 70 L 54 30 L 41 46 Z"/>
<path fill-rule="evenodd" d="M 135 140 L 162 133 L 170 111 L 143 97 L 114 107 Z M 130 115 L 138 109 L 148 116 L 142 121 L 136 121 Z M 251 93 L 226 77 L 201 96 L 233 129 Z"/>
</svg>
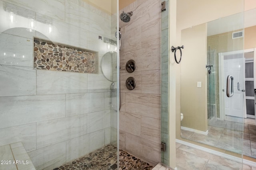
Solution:
<svg viewBox="0 0 256 170">
<path fill-rule="evenodd" d="M 37 94 L 86 93 L 87 74 L 37 70 L 36 86 Z"/>
</svg>

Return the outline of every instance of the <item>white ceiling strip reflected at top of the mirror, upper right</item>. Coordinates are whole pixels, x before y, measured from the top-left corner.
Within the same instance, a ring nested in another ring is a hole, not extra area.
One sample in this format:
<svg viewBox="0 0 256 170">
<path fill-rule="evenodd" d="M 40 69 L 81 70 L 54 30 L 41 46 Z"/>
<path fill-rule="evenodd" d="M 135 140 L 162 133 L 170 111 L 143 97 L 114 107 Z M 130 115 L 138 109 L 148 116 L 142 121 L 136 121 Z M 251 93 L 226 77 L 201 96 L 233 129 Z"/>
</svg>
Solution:
<svg viewBox="0 0 256 170">
<path fill-rule="evenodd" d="M 256 25 L 256 9 L 208 22 L 207 36 L 235 31 L 254 25 Z"/>
</svg>

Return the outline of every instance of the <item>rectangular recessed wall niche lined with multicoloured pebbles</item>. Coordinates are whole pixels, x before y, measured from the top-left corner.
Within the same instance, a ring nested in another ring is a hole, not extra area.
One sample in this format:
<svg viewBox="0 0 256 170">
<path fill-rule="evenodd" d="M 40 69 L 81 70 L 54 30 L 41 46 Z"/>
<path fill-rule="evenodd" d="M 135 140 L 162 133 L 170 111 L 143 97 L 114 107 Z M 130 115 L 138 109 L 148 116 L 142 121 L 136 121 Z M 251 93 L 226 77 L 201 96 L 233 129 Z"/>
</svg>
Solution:
<svg viewBox="0 0 256 170">
<path fill-rule="evenodd" d="M 34 38 L 34 68 L 66 72 L 95 73 L 96 54 Z"/>
</svg>

